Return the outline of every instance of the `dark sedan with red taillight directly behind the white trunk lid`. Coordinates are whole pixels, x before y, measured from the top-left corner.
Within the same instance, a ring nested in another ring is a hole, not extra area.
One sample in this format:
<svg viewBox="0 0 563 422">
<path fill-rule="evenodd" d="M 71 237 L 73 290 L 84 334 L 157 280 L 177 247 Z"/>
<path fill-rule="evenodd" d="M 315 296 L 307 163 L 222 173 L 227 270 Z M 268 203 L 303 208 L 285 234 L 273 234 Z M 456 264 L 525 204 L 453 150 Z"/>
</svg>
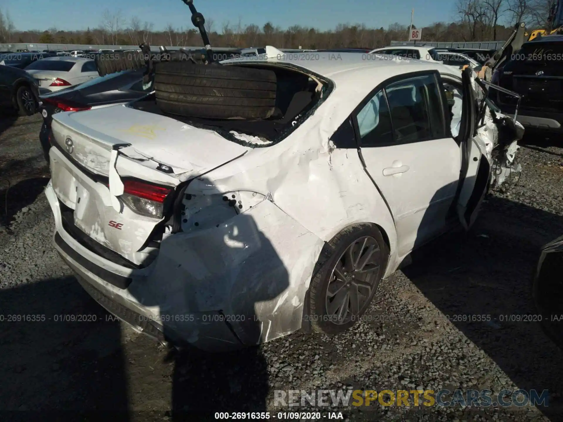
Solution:
<svg viewBox="0 0 563 422">
<path fill-rule="evenodd" d="M 39 97 L 42 102 L 41 114 L 43 115 L 39 141 L 47 163 L 51 148 L 49 134 L 53 114 L 61 113 L 61 111 L 84 111 L 137 100 L 153 91 L 151 84 L 149 86 L 143 84 L 143 72 L 144 69 L 111 73 Z"/>
</svg>

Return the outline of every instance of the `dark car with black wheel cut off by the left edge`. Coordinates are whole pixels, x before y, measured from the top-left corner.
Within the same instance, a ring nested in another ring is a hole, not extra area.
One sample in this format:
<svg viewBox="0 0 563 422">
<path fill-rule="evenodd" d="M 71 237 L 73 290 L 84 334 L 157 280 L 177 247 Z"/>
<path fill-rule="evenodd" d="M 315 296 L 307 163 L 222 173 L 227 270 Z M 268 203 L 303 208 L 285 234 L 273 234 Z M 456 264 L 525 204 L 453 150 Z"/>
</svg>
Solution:
<svg viewBox="0 0 563 422">
<path fill-rule="evenodd" d="M 32 115 L 37 111 L 39 88 L 37 82 L 25 70 L 12 66 L 0 66 L 0 107 L 11 109 L 20 115 Z"/>
</svg>

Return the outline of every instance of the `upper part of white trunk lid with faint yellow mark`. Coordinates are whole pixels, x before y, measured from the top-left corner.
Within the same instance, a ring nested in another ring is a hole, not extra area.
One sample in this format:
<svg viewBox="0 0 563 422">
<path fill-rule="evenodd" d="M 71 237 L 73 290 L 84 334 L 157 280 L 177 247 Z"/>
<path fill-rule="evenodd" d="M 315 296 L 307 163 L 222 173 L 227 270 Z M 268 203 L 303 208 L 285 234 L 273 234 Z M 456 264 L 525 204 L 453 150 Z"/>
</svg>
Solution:
<svg viewBox="0 0 563 422">
<path fill-rule="evenodd" d="M 216 132 L 123 105 L 57 113 L 52 129 L 63 149 L 66 138 L 71 138 L 73 156 L 79 164 L 105 176 L 110 151 L 116 145 L 129 144 L 146 158 L 171 167 L 175 174 L 189 173 L 186 178 L 208 172 L 250 150 Z"/>
</svg>

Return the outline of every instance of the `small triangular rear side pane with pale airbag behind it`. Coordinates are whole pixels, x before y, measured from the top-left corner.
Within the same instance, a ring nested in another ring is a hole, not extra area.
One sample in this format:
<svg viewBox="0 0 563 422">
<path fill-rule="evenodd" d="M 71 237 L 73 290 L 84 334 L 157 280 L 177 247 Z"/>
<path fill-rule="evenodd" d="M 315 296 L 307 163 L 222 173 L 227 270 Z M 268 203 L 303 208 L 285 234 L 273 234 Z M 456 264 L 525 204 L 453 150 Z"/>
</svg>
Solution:
<svg viewBox="0 0 563 422">
<path fill-rule="evenodd" d="M 368 101 L 356 116 L 361 146 L 376 146 L 393 141 L 391 118 L 383 90 Z"/>
</svg>

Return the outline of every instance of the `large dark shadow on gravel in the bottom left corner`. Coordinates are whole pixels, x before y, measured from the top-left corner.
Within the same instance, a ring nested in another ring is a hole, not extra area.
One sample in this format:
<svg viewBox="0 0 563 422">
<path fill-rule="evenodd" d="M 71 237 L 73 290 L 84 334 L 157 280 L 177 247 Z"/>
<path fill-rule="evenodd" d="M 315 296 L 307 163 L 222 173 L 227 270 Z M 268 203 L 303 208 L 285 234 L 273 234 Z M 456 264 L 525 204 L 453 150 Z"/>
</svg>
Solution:
<svg viewBox="0 0 563 422">
<path fill-rule="evenodd" d="M 0 290 L 0 309 L 0 419 L 48 420 L 57 410 L 66 420 L 128 420 L 119 321 L 74 277 Z"/>
</svg>

